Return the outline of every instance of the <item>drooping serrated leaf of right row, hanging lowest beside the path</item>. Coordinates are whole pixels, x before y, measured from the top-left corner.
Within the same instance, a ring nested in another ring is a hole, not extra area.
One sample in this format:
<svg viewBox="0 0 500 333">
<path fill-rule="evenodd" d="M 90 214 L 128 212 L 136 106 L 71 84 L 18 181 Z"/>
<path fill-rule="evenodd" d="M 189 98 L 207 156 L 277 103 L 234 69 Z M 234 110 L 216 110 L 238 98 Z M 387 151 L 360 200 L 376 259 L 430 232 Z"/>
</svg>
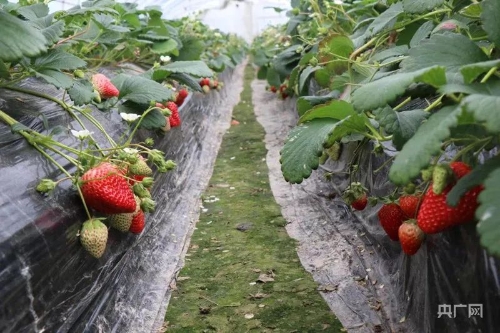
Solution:
<svg viewBox="0 0 500 333">
<path fill-rule="evenodd" d="M 281 171 L 290 183 L 301 183 L 319 166 L 323 143 L 338 121 L 323 118 L 300 124 L 290 131 L 281 149 Z"/>
</svg>

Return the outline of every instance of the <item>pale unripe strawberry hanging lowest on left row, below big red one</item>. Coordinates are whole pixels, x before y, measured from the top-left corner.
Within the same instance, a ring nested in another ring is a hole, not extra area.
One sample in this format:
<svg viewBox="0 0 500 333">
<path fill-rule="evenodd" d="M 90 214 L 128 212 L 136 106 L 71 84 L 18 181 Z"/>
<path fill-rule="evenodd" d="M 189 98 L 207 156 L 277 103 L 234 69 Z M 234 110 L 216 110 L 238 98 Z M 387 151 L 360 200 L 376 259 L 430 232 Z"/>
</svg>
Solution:
<svg viewBox="0 0 500 333">
<path fill-rule="evenodd" d="M 100 258 L 106 250 L 108 228 L 98 219 L 83 222 L 80 231 L 80 243 L 91 256 Z"/>
</svg>

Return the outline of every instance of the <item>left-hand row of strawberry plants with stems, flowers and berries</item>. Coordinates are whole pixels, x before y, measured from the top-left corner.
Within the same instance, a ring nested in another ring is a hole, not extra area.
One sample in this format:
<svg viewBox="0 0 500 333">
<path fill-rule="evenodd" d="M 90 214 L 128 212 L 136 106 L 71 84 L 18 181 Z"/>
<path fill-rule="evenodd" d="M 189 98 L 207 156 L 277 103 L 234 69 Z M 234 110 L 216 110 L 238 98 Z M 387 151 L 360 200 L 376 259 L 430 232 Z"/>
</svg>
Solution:
<svg viewBox="0 0 500 333">
<path fill-rule="evenodd" d="M 217 73 L 241 62 L 247 46 L 201 22 L 168 21 L 155 7 L 115 1 L 86 1 L 55 13 L 44 1 L 2 1 L 0 27 L 0 89 L 56 103 L 76 124 L 70 129 L 75 145 L 61 143 L 59 137 L 68 132 L 62 127 L 35 131 L 3 110 L 0 122 L 59 168 L 61 176 L 42 179 L 37 191 L 49 193 L 62 181 L 72 182 L 87 214 L 80 241 L 99 258 L 107 224 L 135 234 L 144 229 L 145 213 L 155 209 L 152 168 L 175 168 L 152 138 L 135 142 L 134 134 L 140 128 L 167 132 L 180 126 L 178 107 L 189 91 L 220 90 Z M 142 68 L 140 74 L 120 69 L 131 63 Z M 118 74 L 110 79 L 100 73 L 103 67 Z M 29 78 L 63 90 L 63 97 L 20 85 Z M 108 134 L 95 112 L 119 113 L 120 137 Z M 48 126 L 45 115 L 38 116 Z M 107 142 L 98 142 L 91 129 Z"/>
</svg>

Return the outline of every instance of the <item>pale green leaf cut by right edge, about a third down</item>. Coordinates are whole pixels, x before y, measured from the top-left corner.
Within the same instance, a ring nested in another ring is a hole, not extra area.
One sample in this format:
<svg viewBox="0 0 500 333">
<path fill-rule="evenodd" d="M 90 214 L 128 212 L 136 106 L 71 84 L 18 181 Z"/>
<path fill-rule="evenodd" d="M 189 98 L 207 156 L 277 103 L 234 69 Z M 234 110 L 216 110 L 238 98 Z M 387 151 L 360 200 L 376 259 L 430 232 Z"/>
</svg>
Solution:
<svg viewBox="0 0 500 333">
<path fill-rule="evenodd" d="M 500 96 L 469 95 L 462 100 L 462 109 L 471 113 L 490 133 L 500 132 Z"/>
</svg>

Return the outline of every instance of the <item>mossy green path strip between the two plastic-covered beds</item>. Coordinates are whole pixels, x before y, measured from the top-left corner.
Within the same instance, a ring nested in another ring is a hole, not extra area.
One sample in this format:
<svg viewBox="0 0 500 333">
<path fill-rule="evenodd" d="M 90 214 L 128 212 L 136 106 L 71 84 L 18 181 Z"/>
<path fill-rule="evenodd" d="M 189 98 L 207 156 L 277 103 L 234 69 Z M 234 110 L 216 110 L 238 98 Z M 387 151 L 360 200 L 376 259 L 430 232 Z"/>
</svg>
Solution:
<svg viewBox="0 0 500 333">
<path fill-rule="evenodd" d="M 340 332 L 272 195 L 251 66 L 165 317 L 167 332 Z M 251 224 L 247 231 L 240 224 Z M 258 281 L 259 277 L 261 280 Z"/>
</svg>

